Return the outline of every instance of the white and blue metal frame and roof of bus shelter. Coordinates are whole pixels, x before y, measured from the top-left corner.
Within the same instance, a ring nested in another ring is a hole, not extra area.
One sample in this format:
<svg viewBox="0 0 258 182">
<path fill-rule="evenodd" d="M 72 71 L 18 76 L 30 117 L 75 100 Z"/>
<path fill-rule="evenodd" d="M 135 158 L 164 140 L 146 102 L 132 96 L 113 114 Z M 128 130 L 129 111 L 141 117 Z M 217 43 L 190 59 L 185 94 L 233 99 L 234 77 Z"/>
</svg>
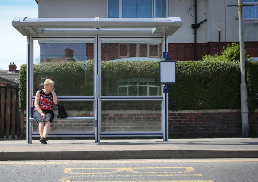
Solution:
<svg viewBox="0 0 258 182">
<path fill-rule="evenodd" d="M 27 18 L 15 17 L 12 25 L 27 36 L 27 116 L 33 97 L 33 39 L 88 39 L 94 35 L 94 97 L 62 96 L 59 100 L 94 100 L 94 134 L 95 142 L 101 136 L 163 136 L 168 141 L 168 93 L 161 96 L 101 96 L 101 40 L 100 39 L 161 39 L 162 50 L 168 50 L 168 36 L 173 35 L 181 26 L 179 17 L 167 18 Z M 133 27 L 133 28 L 132 28 Z M 124 36 L 124 37 L 122 37 Z M 161 59 L 163 60 L 163 59 Z M 161 132 L 101 132 L 101 101 L 104 100 L 161 100 L 162 131 Z M 76 118 L 74 118 L 76 119 Z M 90 119 L 93 118 L 80 118 Z M 33 119 L 27 117 L 27 143 L 32 143 Z M 75 135 L 74 135 L 75 134 Z M 49 136 L 86 136 L 81 132 L 49 133 Z"/>
</svg>

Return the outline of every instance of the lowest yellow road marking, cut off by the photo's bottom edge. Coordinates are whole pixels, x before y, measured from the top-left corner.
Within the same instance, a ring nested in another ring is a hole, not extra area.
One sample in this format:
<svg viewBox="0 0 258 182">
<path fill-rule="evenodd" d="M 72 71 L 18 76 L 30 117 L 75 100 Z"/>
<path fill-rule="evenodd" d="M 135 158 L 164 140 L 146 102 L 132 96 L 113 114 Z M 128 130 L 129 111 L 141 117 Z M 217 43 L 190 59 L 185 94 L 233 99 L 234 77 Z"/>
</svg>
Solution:
<svg viewBox="0 0 258 182">
<path fill-rule="evenodd" d="M 84 177 L 84 176 L 68 176 L 68 177 L 62 177 L 59 179 L 60 182 L 71 182 L 71 178 L 75 177 Z M 73 182 L 214 182 L 213 180 L 150 180 L 150 181 L 74 181 Z"/>
</svg>

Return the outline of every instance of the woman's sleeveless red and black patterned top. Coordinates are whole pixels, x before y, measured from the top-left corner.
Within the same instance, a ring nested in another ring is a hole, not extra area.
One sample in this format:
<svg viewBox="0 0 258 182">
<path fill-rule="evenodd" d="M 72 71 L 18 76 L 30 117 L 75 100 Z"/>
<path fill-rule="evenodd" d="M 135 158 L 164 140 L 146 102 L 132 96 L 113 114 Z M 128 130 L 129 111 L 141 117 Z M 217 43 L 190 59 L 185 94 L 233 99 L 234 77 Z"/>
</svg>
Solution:
<svg viewBox="0 0 258 182">
<path fill-rule="evenodd" d="M 40 90 L 40 102 L 39 106 L 41 110 L 50 110 L 53 111 L 53 94 L 50 92 L 49 94 L 45 94 L 43 90 Z M 36 108 L 34 108 L 34 111 Z"/>
</svg>

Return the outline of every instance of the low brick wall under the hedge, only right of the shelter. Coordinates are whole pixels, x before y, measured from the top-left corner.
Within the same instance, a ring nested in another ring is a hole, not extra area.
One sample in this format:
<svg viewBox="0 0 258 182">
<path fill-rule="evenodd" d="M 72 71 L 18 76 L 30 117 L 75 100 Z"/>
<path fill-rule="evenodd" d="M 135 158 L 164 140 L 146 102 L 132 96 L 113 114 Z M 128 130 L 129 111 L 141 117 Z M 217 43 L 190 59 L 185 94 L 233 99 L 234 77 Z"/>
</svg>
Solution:
<svg viewBox="0 0 258 182">
<path fill-rule="evenodd" d="M 249 129 L 258 132 L 258 110 L 249 113 Z M 169 135 L 241 137 L 241 110 L 185 110 L 169 112 Z"/>
</svg>

